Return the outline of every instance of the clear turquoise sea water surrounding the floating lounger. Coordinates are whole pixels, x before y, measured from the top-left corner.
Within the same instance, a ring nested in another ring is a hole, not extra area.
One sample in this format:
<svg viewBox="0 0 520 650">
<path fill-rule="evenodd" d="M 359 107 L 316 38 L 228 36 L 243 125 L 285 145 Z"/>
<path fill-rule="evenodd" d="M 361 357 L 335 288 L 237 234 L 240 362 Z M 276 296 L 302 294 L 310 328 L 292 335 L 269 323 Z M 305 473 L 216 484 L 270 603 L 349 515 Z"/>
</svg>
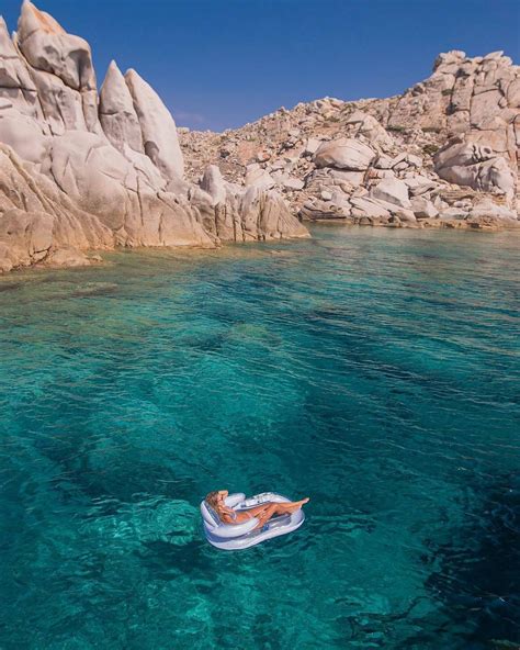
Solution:
<svg viewBox="0 0 520 650">
<path fill-rule="evenodd" d="M 2 649 L 520 643 L 519 238 L 314 235 L 0 279 Z"/>
</svg>

